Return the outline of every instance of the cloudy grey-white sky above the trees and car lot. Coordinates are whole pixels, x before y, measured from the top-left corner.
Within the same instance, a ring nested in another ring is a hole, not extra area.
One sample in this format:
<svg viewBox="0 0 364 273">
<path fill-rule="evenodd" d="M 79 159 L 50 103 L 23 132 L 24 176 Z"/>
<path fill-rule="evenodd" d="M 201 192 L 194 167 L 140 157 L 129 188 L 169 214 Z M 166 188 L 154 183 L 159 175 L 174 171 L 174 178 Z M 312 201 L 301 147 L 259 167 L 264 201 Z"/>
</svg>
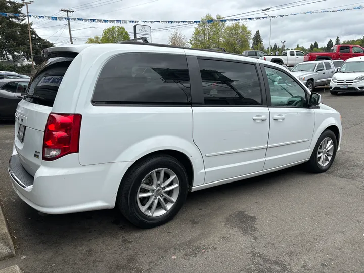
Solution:
<svg viewBox="0 0 364 273">
<path fill-rule="evenodd" d="M 261 9 L 269 15 L 282 15 L 315 10 L 337 10 L 364 5 L 359 0 L 34 0 L 29 6 L 29 13 L 33 15 L 65 16 L 60 9 L 72 8 L 75 12 L 71 17 L 114 19 L 114 20 L 161 20 L 183 21 L 199 20 L 206 13 L 213 16 L 220 14 L 228 18 L 260 17 L 264 16 Z M 20 0 L 19 0 L 20 2 Z M 313 3 L 315 2 L 315 3 Z M 267 4 L 269 3 L 269 4 Z M 307 4 L 311 3 L 311 4 Z M 289 4 L 289 5 L 287 5 Z M 299 5 L 299 6 L 298 6 Z M 344 6 L 345 5 L 345 6 Z M 295 7 L 292 7 L 295 6 Z M 23 9 L 25 12 L 25 9 Z M 244 13 L 244 14 L 242 14 Z M 239 16 L 233 16 L 242 14 Z M 340 40 L 358 39 L 364 34 L 364 9 L 355 11 L 319 13 L 288 16 L 272 19 L 271 45 L 286 41 L 286 47 L 298 44 L 309 47 L 317 41 L 326 45 L 329 39 L 335 42 L 336 36 Z M 59 44 L 69 43 L 68 28 L 64 21 L 33 20 L 37 33 L 51 42 Z M 269 44 L 270 22 L 267 20 L 246 23 L 254 34 L 260 30 L 264 46 Z M 72 22 L 72 36 L 74 43 L 85 43 L 88 37 L 101 35 L 104 28 L 111 24 Z M 123 25 L 127 31 L 133 31 L 133 24 Z M 152 41 L 167 43 L 168 35 L 177 24 L 152 24 Z M 169 29 L 156 30 L 168 27 Z M 178 28 L 187 38 L 190 38 L 194 26 Z M 131 35 L 132 36 L 132 35 Z"/>
</svg>

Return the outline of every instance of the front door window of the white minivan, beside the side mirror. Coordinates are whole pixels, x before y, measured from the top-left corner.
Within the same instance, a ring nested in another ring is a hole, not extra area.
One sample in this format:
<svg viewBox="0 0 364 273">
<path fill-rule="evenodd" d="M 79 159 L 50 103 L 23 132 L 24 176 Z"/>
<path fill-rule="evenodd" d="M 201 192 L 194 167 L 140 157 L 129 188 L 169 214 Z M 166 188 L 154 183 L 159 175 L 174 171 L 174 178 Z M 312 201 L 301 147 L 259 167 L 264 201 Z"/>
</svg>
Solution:
<svg viewBox="0 0 364 273">
<path fill-rule="evenodd" d="M 288 74 L 270 67 L 265 67 L 268 77 L 271 104 L 281 107 L 306 107 L 304 89 Z"/>
</svg>

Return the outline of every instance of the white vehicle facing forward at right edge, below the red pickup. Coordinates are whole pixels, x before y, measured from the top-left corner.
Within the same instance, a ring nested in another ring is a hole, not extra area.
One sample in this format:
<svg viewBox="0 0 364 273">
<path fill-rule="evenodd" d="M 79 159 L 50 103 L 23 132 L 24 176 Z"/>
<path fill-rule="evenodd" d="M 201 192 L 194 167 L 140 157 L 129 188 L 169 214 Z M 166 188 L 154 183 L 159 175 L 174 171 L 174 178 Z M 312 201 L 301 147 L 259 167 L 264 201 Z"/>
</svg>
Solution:
<svg viewBox="0 0 364 273">
<path fill-rule="evenodd" d="M 364 56 L 347 59 L 330 82 L 330 93 L 364 92 Z"/>
</svg>

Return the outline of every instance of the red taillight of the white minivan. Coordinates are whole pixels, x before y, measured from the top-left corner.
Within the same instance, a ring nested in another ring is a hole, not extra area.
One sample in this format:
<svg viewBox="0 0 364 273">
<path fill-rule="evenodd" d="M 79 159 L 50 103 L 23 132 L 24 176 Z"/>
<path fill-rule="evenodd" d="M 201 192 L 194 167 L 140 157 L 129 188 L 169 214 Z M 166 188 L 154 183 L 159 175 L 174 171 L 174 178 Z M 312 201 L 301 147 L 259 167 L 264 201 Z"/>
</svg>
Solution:
<svg viewBox="0 0 364 273">
<path fill-rule="evenodd" d="M 81 119 L 80 114 L 49 114 L 44 130 L 43 160 L 78 153 Z"/>
</svg>

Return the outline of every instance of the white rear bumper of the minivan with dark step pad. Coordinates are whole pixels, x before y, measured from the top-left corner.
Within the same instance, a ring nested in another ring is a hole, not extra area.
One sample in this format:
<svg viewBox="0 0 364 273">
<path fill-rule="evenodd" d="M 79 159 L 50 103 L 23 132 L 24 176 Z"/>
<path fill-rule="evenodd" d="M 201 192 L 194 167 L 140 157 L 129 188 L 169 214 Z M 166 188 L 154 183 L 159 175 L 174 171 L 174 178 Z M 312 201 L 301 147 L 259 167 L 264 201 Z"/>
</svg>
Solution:
<svg viewBox="0 0 364 273">
<path fill-rule="evenodd" d="M 15 192 L 25 203 L 47 214 L 113 208 L 122 175 L 131 165 L 119 162 L 81 166 L 78 154 L 71 154 L 53 162 L 43 161 L 32 177 L 21 163 L 19 166 L 17 156 L 13 155 L 8 165 Z"/>
</svg>

